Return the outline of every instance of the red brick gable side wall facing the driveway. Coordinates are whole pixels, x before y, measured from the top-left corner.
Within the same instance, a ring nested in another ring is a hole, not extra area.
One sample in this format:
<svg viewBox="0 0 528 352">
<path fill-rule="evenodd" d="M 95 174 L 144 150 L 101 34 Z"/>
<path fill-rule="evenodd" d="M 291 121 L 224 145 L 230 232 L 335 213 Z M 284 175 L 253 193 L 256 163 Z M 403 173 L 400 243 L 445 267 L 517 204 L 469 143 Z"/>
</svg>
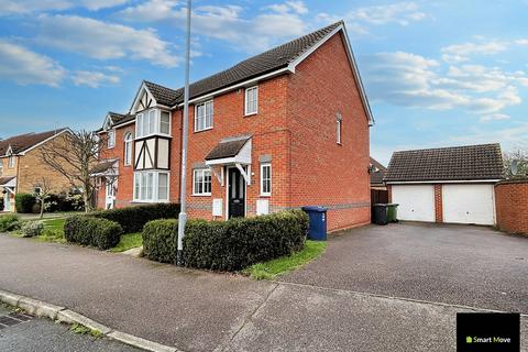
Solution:
<svg viewBox="0 0 528 352">
<path fill-rule="evenodd" d="M 329 230 L 369 223 L 369 120 L 340 35 L 289 76 L 287 112 L 295 131 L 292 206 L 327 206 Z M 337 143 L 338 113 L 341 144 Z"/>
</svg>

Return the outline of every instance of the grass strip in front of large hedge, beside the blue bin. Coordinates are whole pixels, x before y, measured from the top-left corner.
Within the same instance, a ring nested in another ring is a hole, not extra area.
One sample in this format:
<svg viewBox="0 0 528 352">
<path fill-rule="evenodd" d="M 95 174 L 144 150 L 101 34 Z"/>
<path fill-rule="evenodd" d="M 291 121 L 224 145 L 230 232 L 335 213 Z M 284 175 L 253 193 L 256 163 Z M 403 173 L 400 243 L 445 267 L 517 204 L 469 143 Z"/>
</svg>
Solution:
<svg viewBox="0 0 528 352">
<path fill-rule="evenodd" d="M 324 253 L 327 242 L 306 241 L 302 251 L 264 263 L 256 263 L 243 271 L 255 279 L 274 279 L 314 261 Z"/>
</svg>

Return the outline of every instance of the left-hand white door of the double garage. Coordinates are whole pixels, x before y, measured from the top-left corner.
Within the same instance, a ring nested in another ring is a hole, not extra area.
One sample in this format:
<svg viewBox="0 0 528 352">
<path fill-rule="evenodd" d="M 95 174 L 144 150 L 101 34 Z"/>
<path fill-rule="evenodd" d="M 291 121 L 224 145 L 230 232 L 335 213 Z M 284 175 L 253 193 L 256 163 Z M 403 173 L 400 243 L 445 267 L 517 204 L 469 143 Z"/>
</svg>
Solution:
<svg viewBox="0 0 528 352">
<path fill-rule="evenodd" d="M 393 202 L 398 204 L 398 219 L 435 222 L 435 186 L 393 186 Z"/>
</svg>

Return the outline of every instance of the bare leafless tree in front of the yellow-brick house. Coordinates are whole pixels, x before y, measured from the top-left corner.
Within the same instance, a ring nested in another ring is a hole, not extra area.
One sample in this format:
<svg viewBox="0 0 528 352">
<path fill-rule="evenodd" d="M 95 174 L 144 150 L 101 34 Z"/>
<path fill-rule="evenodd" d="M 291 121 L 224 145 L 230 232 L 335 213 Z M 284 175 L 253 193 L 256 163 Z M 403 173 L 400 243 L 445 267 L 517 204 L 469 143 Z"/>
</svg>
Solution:
<svg viewBox="0 0 528 352">
<path fill-rule="evenodd" d="M 96 132 L 79 130 L 64 133 L 64 139 L 42 145 L 41 160 L 52 169 L 66 177 L 73 187 L 80 187 L 85 210 L 92 210 L 96 179 L 90 169 L 97 162 L 103 141 Z"/>
</svg>

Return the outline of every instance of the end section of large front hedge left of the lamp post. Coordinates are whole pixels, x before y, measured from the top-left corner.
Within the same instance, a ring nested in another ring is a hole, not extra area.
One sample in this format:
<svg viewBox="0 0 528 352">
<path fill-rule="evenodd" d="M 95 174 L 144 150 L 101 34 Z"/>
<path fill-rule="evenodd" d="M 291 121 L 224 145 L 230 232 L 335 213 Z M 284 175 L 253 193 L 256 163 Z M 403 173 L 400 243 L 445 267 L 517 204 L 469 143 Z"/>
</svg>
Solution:
<svg viewBox="0 0 528 352">
<path fill-rule="evenodd" d="M 176 240 L 178 220 L 153 220 L 143 228 L 143 256 L 162 262 L 174 263 L 176 260 Z"/>
</svg>

